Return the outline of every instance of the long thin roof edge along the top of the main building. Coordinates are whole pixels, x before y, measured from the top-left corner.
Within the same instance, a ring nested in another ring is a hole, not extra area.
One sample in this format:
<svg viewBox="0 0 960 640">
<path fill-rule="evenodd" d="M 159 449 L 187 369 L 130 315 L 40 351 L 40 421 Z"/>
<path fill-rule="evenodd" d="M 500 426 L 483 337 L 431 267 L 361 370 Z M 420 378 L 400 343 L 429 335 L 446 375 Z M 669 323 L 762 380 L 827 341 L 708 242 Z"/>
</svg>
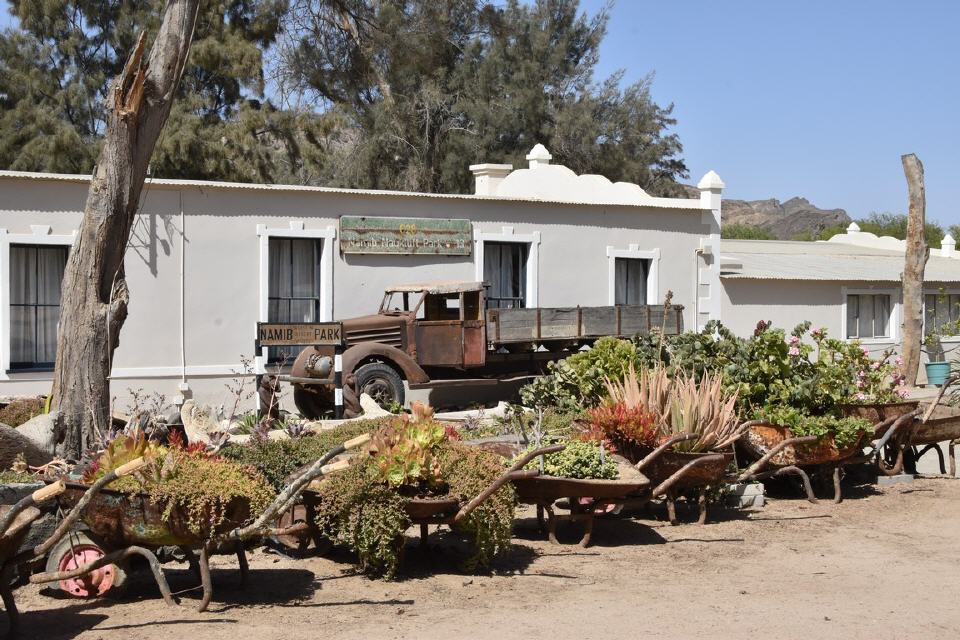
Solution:
<svg viewBox="0 0 960 640">
<path fill-rule="evenodd" d="M 88 183 L 90 176 L 69 173 L 39 173 L 32 171 L 0 170 L 0 179 L 36 180 L 53 182 Z M 589 206 L 622 206 L 622 207 L 653 207 L 659 209 L 677 209 L 681 211 L 701 211 L 700 200 L 695 198 L 649 198 L 641 204 L 610 203 L 560 200 L 549 198 L 531 198 L 518 196 L 479 196 L 463 193 L 420 193 L 416 191 L 377 191 L 374 189 L 341 189 L 337 187 L 314 187 L 295 184 L 257 184 L 248 182 L 215 182 L 212 180 L 176 180 L 172 178 L 147 178 L 145 188 L 164 187 L 192 187 L 196 189 L 238 189 L 247 191 L 278 191 L 278 192 L 308 192 L 333 193 L 344 195 L 363 195 L 390 198 L 439 198 L 444 200 L 478 200 L 487 202 L 533 202 L 544 204 L 573 204 Z"/>
</svg>

